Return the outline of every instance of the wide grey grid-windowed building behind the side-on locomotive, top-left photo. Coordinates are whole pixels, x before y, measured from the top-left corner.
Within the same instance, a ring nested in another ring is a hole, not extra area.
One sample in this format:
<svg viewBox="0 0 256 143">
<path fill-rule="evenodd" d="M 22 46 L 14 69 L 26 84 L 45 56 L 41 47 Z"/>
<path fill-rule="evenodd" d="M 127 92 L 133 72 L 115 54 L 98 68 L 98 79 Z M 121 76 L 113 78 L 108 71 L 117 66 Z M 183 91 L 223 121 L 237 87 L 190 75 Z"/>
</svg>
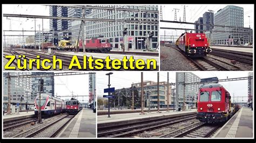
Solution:
<svg viewBox="0 0 256 143">
<path fill-rule="evenodd" d="M 111 6 L 113 7 L 113 5 Z M 137 6 L 137 5 L 121 5 L 116 8 L 150 10 L 152 12 L 129 12 L 129 11 L 111 11 L 95 9 L 86 18 L 99 19 L 124 19 L 124 20 L 141 20 L 140 23 L 125 22 L 86 22 L 85 37 L 99 37 L 103 35 L 110 39 L 113 49 L 121 49 L 120 44 L 123 43 L 123 30 L 127 28 L 127 40 L 129 49 L 142 50 L 145 49 L 145 40 L 147 33 L 153 32 L 152 47 L 156 48 L 158 44 L 158 23 L 150 23 L 158 21 L 158 6 Z"/>
</svg>

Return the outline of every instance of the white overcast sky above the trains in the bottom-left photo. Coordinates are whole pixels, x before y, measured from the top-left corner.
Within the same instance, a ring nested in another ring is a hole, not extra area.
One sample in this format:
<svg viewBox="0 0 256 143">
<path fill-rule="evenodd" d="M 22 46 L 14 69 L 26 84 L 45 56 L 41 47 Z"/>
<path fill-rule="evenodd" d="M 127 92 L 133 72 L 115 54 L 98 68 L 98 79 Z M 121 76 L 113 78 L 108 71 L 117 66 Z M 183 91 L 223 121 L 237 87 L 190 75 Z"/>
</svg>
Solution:
<svg viewBox="0 0 256 143">
<path fill-rule="evenodd" d="M 55 96 L 71 96 L 73 95 L 89 95 L 89 75 L 69 75 L 69 76 L 55 76 Z M 64 97 L 62 99 L 70 99 L 71 97 Z M 82 102 L 89 101 L 89 97 L 78 97 Z"/>
</svg>

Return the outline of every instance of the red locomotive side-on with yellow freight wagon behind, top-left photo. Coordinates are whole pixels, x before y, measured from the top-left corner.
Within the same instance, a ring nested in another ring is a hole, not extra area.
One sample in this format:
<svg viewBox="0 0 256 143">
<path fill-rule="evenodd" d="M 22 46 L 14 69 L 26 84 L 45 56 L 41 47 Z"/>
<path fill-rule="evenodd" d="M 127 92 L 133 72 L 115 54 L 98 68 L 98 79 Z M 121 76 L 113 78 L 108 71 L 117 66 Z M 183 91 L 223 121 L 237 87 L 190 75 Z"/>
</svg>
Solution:
<svg viewBox="0 0 256 143">
<path fill-rule="evenodd" d="M 86 52 L 98 52 L 109 53 L 112 49 L 109 39 L 107 38 L 91 38 L 86 39 L 85 51 Z M 79 40 L 79 51 L 83 52 L 83 42 Z"/>
</svg>

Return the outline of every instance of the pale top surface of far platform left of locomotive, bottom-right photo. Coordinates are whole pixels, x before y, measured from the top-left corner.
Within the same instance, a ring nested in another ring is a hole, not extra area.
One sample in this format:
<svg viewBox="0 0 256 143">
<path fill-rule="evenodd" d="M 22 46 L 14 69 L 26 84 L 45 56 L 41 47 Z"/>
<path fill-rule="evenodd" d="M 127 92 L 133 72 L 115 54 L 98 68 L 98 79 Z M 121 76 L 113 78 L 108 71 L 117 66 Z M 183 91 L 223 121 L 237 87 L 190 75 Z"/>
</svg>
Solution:
<svg viewBox="0 0 256 143">
<path fill-rule="evenodd" d="M 191 111 L 172 111 L 169 112 L 166 111 L 160 111 L 160 113 L 157 113 L 156 111 L 148 113 L 144 112 L 144 115 L 140 115 L 139 112 L 137 113 L 120 113 L 117 115 L 110 115 L 110 118 L 108 115 L 98 116 L 97 117 L 97 124 L 105 124 L 105 123 L 114 123 L 118 121 L 126 121 L 126 120 L 136 120 L 136 119 L 143 119 L 143 118 L 153 118 L 153 117 L 161 117 L 161 116 L 169 116 L 169 115 L 179 115 L 181 113 L 193 113 L 197 112 L 197 109 L 192 109 Z"/>
</svg>

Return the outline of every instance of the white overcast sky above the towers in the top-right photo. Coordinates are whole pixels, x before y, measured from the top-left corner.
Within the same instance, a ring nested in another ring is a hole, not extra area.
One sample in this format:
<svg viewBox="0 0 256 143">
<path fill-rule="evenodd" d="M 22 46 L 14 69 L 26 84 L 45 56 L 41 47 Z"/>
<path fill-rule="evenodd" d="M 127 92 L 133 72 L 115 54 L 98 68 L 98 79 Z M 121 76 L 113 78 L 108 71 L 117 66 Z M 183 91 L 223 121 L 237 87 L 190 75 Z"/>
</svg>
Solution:
<svg viewBox="0 0 256 143">
<path fill-rule="evenodd" d="M 235 5 L 244 8 L 244 27 L 250 27 L 254 30 L 254 5 L 253 4 L 186 4 L 186 22 L 194 23 L 199 17 L 203 17 L 203 14 L 208 10 L 213 10 L 214 14 L 218 10 L 225 8 L 227 5 Z M 162 5 L 163 20 L 174 20 L 174 10 L 177 10 L 177 20 L 183 22 L 184 4 L 167 4 Z M 192 28 L 194 25 L 190 24 L 173 24 L 173 23 L 160 23 L 160 27 L 177 27 L 177 28 Z M 184 30 L 160 30 L 160 35 L 180 35 L 184 33 Z"/>
</svg>

